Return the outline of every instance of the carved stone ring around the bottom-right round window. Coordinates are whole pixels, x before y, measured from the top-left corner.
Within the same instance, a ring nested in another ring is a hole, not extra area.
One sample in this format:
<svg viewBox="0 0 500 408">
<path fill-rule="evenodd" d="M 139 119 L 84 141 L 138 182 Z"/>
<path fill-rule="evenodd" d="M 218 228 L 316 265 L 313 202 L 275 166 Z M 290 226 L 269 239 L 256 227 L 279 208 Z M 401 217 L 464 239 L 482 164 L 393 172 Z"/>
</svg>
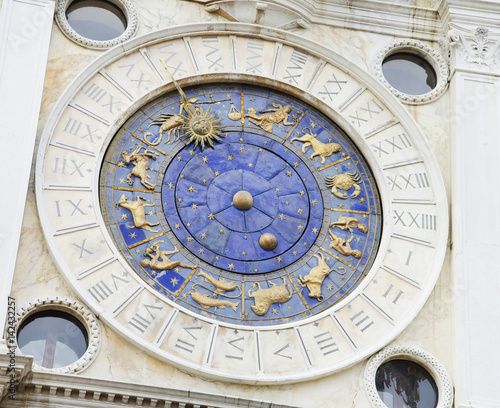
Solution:
<svg viewBox="0 0 500 408">
<path fill-rule="evenodd" d="M 420 364 L 432 375 L 438 387 L 438 404 L 436 408 L 451 408 L 453 405 L 453 386 L 446 368 L 432 354 L 415 346 L 389 346 L 375 354 L 365 368 L 365 390 L 368 398 L 376 408 L 387 408 L 380 399 L 375 386 L 377 369 L 389 360 L 406 359 Z"/>
</svg>

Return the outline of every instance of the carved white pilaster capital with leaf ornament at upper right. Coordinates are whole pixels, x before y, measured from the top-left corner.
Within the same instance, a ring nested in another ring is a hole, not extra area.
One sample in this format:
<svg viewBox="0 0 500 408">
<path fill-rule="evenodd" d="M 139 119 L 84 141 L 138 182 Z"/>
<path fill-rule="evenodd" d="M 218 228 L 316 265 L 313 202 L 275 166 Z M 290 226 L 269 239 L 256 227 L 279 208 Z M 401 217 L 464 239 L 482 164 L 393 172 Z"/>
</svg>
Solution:
<svg viewBox="0 0 500 408">
<path fill-rule="evenodd" d="M 487 28 L 468 30 L 450 24 L 448 49 L 452 72 L 478 71 L 500 75 L 500 36 Z"/>
</svg>

